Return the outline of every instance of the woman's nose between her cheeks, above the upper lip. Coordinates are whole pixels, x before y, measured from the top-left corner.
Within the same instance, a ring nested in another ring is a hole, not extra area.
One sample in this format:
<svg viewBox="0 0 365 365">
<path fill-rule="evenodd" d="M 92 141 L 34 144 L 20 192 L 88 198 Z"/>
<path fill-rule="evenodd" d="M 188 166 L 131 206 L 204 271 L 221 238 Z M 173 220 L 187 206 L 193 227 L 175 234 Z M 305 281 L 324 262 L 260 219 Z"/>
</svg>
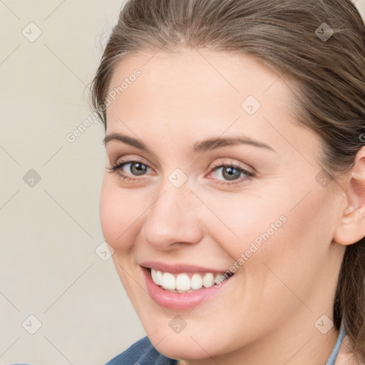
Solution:
<svg viewBox="0 0 365 365">
<path fill-rule="evenodd" d="M 143 239 L 158 250 L 197 244 L 202 240 L 203 230 L 199 204 L 187 183 L 175 187 L 168 181 L 145 212 Z"/>
</svg>

